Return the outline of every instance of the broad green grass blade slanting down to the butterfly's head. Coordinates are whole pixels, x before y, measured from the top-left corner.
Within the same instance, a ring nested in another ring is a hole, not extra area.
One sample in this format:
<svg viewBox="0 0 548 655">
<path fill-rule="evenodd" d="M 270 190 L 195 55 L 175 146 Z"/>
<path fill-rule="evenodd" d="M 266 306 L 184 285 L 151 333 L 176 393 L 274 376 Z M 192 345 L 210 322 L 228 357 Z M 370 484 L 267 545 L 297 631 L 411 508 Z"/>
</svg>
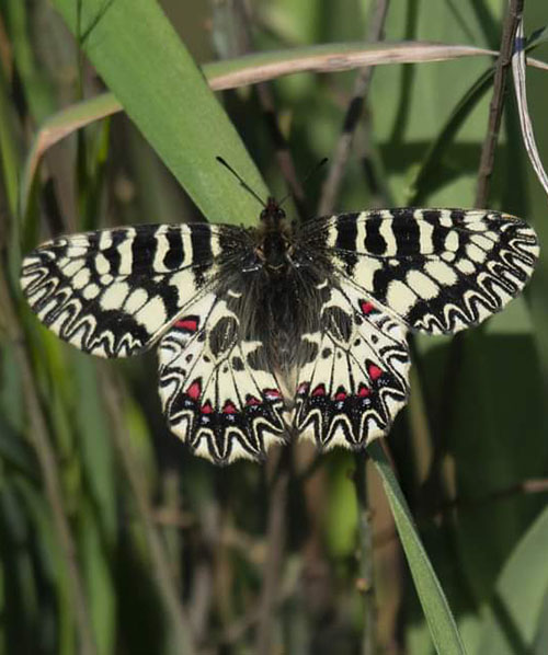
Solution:
<svg viewBox="0 0 548 655">
<path fill-rule="evenodd" d="M 215 160 L 267 192 L 246 148 L 160 5 L 149 0 L 54 0 L 106 84 L 202 212 L 252 222 L 258 204 Z"/>
</svg>

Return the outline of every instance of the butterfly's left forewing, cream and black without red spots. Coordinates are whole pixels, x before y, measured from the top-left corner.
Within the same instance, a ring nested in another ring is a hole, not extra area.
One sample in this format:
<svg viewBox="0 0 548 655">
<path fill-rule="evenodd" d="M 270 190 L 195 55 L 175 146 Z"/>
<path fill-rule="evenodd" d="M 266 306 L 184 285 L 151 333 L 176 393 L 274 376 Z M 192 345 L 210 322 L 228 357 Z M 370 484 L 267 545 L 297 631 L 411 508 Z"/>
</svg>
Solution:
<svg viewBox="0 0 548 655">
<path fill-rule="evenodd" d="M 237 230 L 163 225 L 60 237 L 24 258 L 21 286 L 62 340 L 93 355 L 126 357 L 153 344 L 215 279 L 214 261 Z"/>
</svg>

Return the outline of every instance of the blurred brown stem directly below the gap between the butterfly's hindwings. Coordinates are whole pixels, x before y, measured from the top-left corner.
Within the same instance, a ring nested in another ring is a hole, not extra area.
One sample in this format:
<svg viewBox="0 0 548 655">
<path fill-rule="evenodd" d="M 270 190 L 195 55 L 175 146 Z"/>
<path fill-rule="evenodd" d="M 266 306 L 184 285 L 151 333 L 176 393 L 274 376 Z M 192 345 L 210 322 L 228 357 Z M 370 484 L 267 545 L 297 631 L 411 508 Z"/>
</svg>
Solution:
<svg viewBox="0 0 548 655">
<path fill-rule="evenodd" d="M 287 507 L 287 486 L 289 484 L 290 453 L 289 446 L 282 450 L 270 489 L 269 526 L 266 529 L 267 553 L 259 601 L 259 624 L 255 639 L 256 655 L 270 655 L 272 653 L 272 632 L 285 548 L 285 512 Z"/>
</svg>

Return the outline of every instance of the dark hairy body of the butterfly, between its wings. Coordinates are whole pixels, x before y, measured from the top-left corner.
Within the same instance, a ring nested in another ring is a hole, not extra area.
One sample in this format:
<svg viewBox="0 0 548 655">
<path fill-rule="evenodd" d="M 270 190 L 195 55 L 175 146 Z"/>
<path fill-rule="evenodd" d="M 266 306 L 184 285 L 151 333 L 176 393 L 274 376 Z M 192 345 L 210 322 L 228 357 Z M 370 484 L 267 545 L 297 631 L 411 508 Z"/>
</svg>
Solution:
<svg viewBox="0 0 548 655">
<path fill-rule="evenodd" d="M 228 226 L 226 226 L 227 229 Z M 227 244 L 219 260 L 218 297 L 230 297 L 239 341 L 264 344 L 263 365 L 289 375 L 302 335 L 319 330 L 324 294 L 318 288 L 329 263 L 315 257 L 274 198 L 269 198 L 249 241 Z"/>
</svg>

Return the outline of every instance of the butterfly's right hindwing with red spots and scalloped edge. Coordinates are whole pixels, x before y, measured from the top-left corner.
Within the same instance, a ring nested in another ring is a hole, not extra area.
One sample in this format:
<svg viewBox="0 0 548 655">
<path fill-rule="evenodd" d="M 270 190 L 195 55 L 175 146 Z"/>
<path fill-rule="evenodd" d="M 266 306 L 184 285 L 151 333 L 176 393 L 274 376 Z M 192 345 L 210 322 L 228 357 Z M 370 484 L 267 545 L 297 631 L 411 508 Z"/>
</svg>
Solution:
<svg viewBox="0 0 548 655">
<path fill-rule="evenodd" d="M 322 449 L 363 448 L 406 404 L 409 366 L 404 326 L 355 287 L 331 288 L 320 330 L 302 338 L 295 428 Z"/>
</svg>

